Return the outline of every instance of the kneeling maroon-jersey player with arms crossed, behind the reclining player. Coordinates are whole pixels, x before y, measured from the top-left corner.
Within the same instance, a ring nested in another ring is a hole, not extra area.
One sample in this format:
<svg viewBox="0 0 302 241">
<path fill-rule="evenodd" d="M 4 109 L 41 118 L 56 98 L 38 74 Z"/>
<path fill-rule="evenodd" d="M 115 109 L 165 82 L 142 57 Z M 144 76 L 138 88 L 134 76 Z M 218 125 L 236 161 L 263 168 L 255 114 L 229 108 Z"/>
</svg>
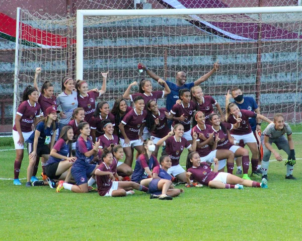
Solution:
<svg viewBox="0 0 302 241">
<path fill-rule="evenodd" d="M 192 128 L 192 133 L 194 131 L 199 136 L 197 139 L 196 151 L 200 155 L 200 162 L 207 162 L 211 164 L 214 157 L 218 160 L 227 159 L 226 166 L 228 168 L 228 173 L 233 174 L 234 153 L 230 150 L 216 149 L 217 143 L 220 141 L 220 139 L 217 135 L 215 135 L 214 138 L 215 131 L 212 129 L 212 126 L 205 124 L 206 119 L 204 113 L 197 111 L 194 113 L 194 116 L 197 125 Z M 219 167 L 218 172 L 223 172 L 224 166 L 225 162 L 223 162 L 223 166 Z"/>
</svg>

